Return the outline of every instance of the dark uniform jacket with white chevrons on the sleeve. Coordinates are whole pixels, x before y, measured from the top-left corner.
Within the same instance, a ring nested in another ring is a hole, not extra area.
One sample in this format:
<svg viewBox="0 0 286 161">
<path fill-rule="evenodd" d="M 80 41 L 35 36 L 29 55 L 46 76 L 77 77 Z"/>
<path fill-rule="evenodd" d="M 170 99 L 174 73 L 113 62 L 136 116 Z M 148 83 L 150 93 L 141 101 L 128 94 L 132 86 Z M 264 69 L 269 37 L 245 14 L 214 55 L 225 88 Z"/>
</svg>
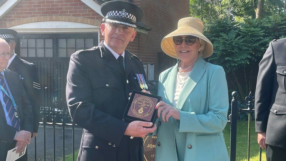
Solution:
<svg viewBox="0 0 286 161">
<path fill-rule="evenodd" d="M 34 116 L 33 132 L 38 132 L 41 106 L 41 85 L 38 78 L 36 65 L 20 59 L 18 55 L 13 59 L 8 67 L 19 74 L 23 87 L 27 93 Z"/>
</svg>

